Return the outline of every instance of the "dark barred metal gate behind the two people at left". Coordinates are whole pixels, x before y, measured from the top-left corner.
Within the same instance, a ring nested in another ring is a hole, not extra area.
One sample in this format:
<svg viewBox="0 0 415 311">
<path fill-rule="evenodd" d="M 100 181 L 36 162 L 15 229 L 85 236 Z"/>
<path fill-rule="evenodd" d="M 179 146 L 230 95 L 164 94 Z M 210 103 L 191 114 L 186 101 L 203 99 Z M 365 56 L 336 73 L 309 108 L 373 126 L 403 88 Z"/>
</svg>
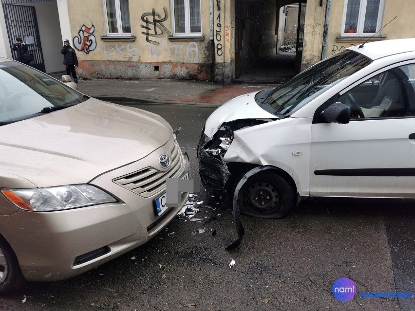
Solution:
<svg viewBox="0 0 415 311">
<path fill-rule="evenodd" d="M 34 60 L 30 63 L 30 66 L 45 72 L 35 7 L 3 3 L 3 11 L 10 49 L 13 48 L 16 38 L 21 37 L 29 47 L 29 53 L 32 53 L 34 56 Z M 14 51 L 12 51 L 12 54 L 13 59 L 16 59 Z"/>
</svg>

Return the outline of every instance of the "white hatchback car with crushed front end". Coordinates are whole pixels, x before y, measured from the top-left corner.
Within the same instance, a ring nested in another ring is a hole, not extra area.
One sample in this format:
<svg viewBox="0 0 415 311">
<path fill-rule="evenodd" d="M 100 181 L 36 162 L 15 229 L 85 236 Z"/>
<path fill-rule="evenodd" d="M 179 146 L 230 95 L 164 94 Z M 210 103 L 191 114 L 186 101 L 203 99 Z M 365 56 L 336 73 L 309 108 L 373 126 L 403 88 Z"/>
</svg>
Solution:
<svg viewBox="0 0 415 311">
<path fill-rule="evenodd" d="M 276 89 L 236 97 L 207 119 L 202 183 L 264 218 L 307 198 L 415 198 L 414 90 L 415 39 L 399 39 L 346 49 Z"/>
</svg>

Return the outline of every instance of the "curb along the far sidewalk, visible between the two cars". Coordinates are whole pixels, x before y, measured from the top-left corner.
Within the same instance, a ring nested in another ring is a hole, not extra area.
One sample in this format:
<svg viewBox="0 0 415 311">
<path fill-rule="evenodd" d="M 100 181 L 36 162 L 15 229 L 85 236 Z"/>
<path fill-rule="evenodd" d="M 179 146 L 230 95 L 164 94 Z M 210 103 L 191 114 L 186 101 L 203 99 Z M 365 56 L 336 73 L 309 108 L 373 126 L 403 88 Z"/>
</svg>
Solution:
<svg viewBox="0 0 415 311">
<path fill-rule="evenodd" d="M 132 98 L 123 96 L 102 96 L 102 95 L 89 95 L 99 100 L 111 102 L 119 105 L 143 105 L 143 104 L 160 104 L 160 105 L 186 105 L 186 106 L 198 106 L 217 108 L 223 105 L 223 103 L 204 103 L 204 102 L 185 102 L 174 101 L 164 99 L 152 99 L 152 98 Z"/>
</svg>

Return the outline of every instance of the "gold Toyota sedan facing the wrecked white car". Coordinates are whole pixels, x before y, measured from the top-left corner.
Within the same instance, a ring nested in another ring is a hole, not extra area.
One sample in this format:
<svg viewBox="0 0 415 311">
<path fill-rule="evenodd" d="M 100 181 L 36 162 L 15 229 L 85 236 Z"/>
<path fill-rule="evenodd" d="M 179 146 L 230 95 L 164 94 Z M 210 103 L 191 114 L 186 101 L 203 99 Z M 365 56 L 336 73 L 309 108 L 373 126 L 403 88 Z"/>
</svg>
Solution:
<svg viewBox="0 0 415 311">
<path fill-rule="evenodd" d="M 144 244 L 189 178 L 169 123 L 0 57 L 0 294 L 62 280 Z"/>
</svg>

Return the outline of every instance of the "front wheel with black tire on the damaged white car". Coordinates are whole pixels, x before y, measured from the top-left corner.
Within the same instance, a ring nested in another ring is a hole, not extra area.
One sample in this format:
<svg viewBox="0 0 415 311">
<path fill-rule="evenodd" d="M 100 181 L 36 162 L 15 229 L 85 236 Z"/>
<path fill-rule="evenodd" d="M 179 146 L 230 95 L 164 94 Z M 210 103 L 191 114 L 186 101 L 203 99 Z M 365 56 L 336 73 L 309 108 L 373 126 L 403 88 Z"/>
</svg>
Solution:
<svg viewBox="0 0 415 311">
<path fill-rule="evenodd" d="M 236 181 L 235 190 L 237 183 Z M 259 218 L 283 218 L 296 204 L 294 187 L 275 171 L 262 171 L 242 185 L 238 195 L 241 214 Z"/>
</svg>

